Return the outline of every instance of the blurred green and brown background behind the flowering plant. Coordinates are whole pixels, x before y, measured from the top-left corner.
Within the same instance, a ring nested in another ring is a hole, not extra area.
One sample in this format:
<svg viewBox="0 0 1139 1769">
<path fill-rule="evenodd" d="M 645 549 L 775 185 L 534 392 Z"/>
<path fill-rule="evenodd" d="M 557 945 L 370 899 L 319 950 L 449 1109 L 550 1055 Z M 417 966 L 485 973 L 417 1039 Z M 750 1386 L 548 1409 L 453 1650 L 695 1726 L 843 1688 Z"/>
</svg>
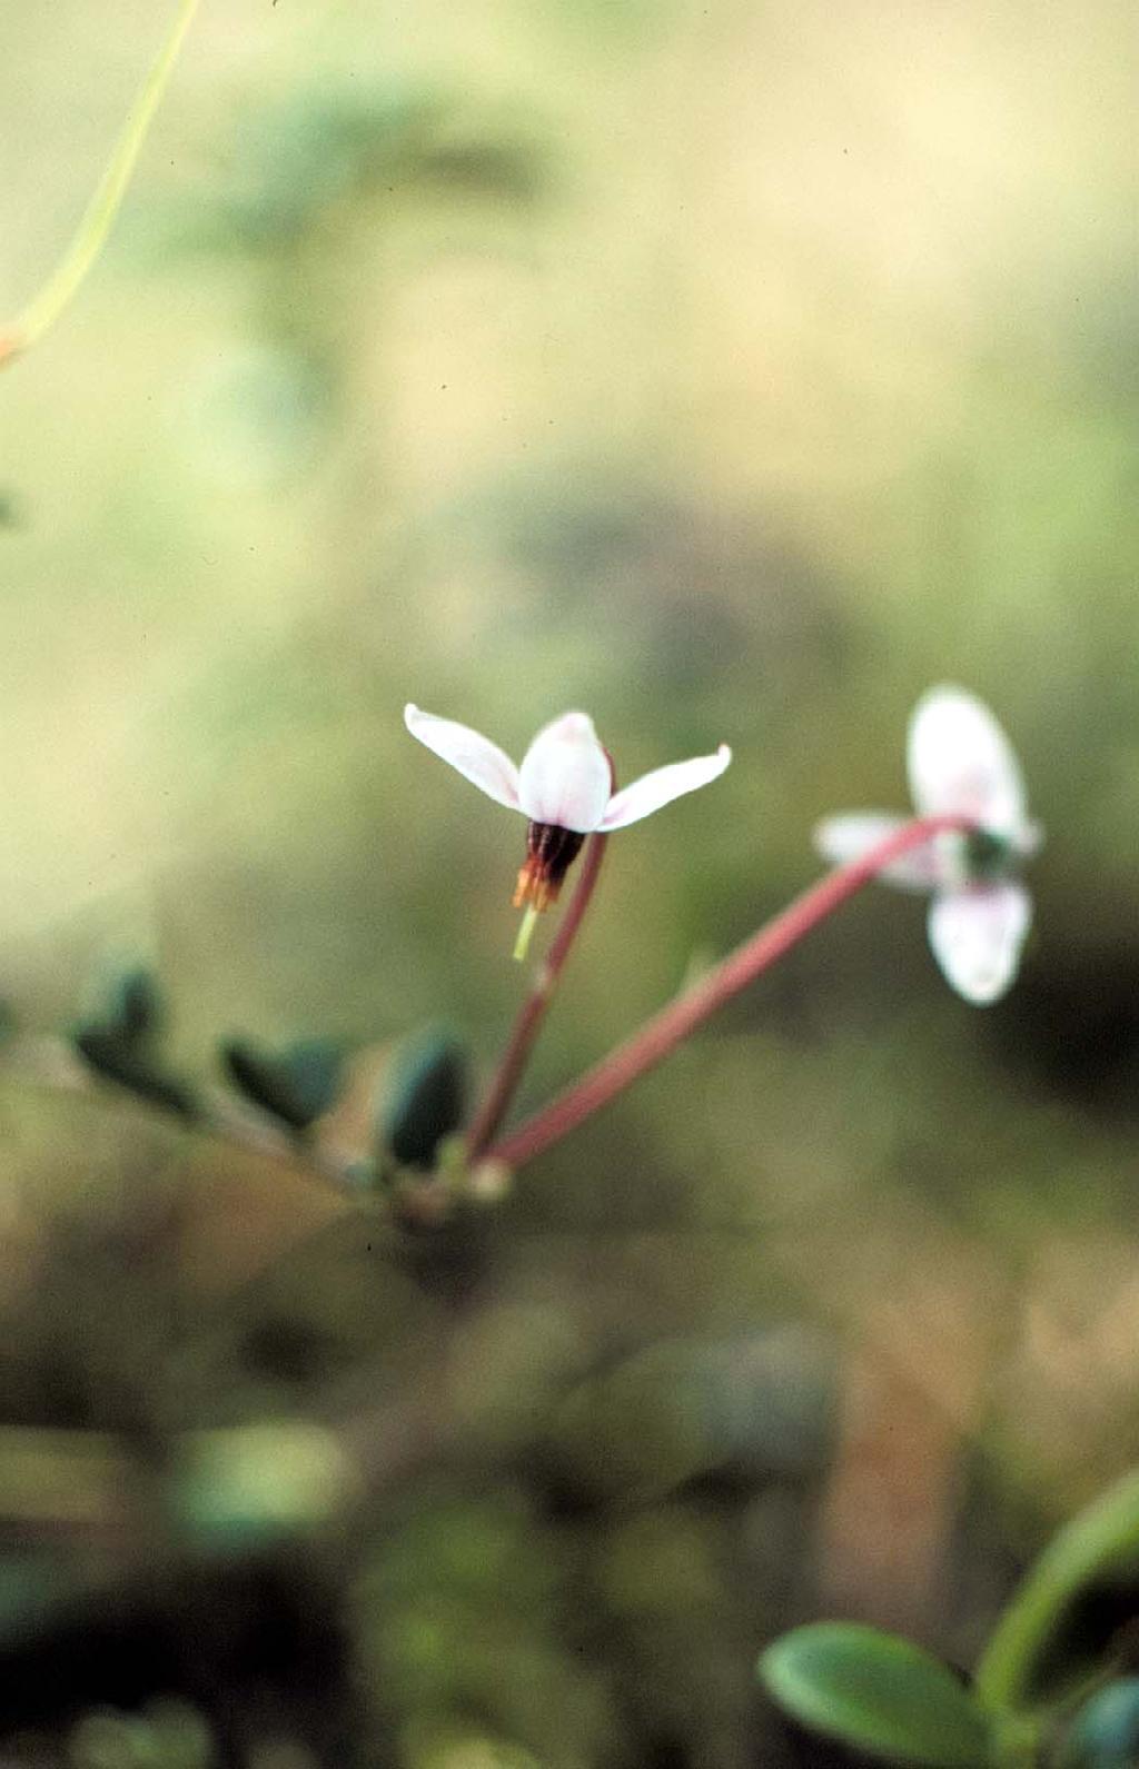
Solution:
<svg viewBox="0 0 1139 1769">
<path fill-rule="evenodd" d="M 0 311 L 170 12 L 7 0 Z M 1134 74 L 1123 0 L 203 0 L 0 380 L 7 1760 L 782 1764 L 778 1629 L 967 1665 L 1135 1461 Z M 904 805 L 943 679 L 1047 830 L 992 1010 L 868 893 L 412 1247 L 69 1054 L 141 957 L 200 1086 L 424 1024 L 485 1077 L 524 828 L 403 702 L 729 741 L 534 1106 Z"/>
</svg>

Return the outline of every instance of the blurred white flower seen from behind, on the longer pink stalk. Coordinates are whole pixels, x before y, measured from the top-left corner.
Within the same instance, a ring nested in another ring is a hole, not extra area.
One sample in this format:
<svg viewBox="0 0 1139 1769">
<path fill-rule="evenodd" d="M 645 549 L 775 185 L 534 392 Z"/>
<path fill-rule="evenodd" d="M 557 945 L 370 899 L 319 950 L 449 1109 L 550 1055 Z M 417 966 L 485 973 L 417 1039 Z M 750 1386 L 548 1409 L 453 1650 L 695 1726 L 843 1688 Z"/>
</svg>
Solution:
<svg viewBox="0 0 1139 1769">
<path fill-rule="evenodd" d="M 883 867 L 902 890 L 932 890 L 929 939 L 946 980 L 985 1005 L 1010 987 L 1031 923 L 1031 899 L 1013 876 L 1040 847 L 1024 780 L 996 718 L 964 688 L 930 688 L 909 720 L 909 789 L 920 817 L 969 817 L 975 833 L 943 831 Z M 847 812 L 815 830 L 835 863 L 858 860 L 909 819 Z"/>
</svg>

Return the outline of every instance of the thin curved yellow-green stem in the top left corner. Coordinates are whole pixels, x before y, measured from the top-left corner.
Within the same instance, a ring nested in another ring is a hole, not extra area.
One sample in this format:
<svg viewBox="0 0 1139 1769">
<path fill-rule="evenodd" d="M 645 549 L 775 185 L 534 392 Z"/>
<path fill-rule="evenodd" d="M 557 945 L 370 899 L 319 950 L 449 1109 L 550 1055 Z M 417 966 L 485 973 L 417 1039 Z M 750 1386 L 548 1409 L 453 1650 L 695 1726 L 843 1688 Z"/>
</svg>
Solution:
<svg viewBox="0 0 1139 1769">
<path fill-rule="evenodd" d="M 71 246 L 39 294 L 28 301 L 27 308 L 23 308 L 14 320 L 0 327 L 0 366 L 4 366 L 4 363 L 11 363 L 25 350 L 30 350 L 30 347 L 37 343 L 51 325 L 55 325 L 57 318 L 99 257 L 106 235 L 111 230 L 111 223 L 118 214 L 118 205 L 124 198 L 127 184 L 131 182 L 131 173 L 134 172 L 141 145 L 147 138 L 147 129 L 150 127 L 163 92 L 166 90 L 166 81 L 170 80 L 173 64 L 179 58 L 182 39 L 186 37 L 196 11 L 198 0 L 182 0 L 170 35 L 166 37 L 154 67 L 147 74 L 143 87 L 134 99 L 103 177 L 99 179 L 99 184 L 83 211 L 83 218 L 74 232 Z"/>
</svg>

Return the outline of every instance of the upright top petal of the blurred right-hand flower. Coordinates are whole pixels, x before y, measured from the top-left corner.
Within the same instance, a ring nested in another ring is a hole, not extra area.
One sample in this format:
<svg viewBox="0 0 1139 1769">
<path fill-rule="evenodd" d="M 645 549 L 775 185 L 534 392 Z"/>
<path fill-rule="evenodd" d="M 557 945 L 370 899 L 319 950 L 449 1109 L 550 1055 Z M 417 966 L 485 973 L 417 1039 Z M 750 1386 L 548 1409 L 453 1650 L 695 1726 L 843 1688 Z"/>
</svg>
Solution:
<svg viewBox="0 0 1139 1769">
<path fill-rule="evenodd" d="M 909 789 L 923 817 L 976 817 L 996 835 L 1026 824 L 1024 780 L 989 708 L 964 688 L 930 688 L 909 720 Z"/>
</svg>

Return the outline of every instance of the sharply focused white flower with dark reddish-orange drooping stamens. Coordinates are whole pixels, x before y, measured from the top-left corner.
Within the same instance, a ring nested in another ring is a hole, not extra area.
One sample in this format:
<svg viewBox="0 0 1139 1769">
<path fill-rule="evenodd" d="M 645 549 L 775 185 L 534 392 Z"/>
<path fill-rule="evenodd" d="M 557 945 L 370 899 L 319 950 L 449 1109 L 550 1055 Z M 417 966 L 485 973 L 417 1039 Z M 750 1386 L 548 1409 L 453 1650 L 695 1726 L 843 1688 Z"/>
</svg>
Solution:
<svg viewBox="0 0 1139 1769">
<path fill-rule="evenodd" d="M 557 899 L 561 883 L 587 835 L 624 830 L 660 810 L 681 793 L 693 793 L 723 773 L 732 759 L 727 743 L 715 755 L 695 755 L 642 775 L 623 791 L 612 791 L 608 755 L 587 713 L 562 713 L 545 725 L 515 768 L 490 738 L 451 718 L 435 718 L 417 706 L 405 706 L 403 722 L 428 750 L 451 762 L 465 780 L 509 810 L 531 819 L 527 860 L 518 872 L 515 907 L 545 909 Z"/>
</svg>

